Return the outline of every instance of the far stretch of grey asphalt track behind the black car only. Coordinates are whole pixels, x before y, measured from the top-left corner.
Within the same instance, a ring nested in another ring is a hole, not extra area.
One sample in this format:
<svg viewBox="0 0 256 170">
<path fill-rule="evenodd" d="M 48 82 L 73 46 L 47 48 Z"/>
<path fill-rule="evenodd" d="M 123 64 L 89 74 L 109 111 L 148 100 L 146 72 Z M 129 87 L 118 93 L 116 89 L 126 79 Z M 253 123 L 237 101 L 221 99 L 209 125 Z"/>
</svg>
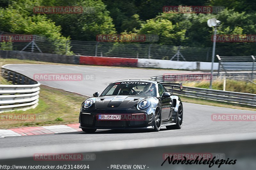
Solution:
<svg viewBox="0 0 256 170">
<path fill-rule="evenodd" d="M 92 96 L 94 92 L 102 92 L 111 82 L 124 79 L 148 79 L 163 74 L 191 73 L 192 71 L 125 69 L 94 66 L 11 64 L 4 66 L 29 78 L 34 74 L 73 73 L 82 74 L 82 81 L 39 81 L 43 85 Z M 200 72 L 196 72 L 200 73 Z"/>
</svg>

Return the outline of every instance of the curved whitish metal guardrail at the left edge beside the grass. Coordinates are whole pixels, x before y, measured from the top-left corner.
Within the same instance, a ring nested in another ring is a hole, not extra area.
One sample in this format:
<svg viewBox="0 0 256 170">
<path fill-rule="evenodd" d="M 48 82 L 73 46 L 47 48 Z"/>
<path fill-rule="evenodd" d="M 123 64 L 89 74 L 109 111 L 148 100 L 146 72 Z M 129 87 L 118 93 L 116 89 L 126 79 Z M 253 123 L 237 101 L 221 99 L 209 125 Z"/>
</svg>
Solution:
<svg viewBox="0 0 256 170">
<path fill-rule="evenodd" d="M 0 85 L 0 113 L 35 108 L 39 101 L 40 83 L 12 70 L 2 69 L 2 77 L 14 85 Z"/>
</svg>

